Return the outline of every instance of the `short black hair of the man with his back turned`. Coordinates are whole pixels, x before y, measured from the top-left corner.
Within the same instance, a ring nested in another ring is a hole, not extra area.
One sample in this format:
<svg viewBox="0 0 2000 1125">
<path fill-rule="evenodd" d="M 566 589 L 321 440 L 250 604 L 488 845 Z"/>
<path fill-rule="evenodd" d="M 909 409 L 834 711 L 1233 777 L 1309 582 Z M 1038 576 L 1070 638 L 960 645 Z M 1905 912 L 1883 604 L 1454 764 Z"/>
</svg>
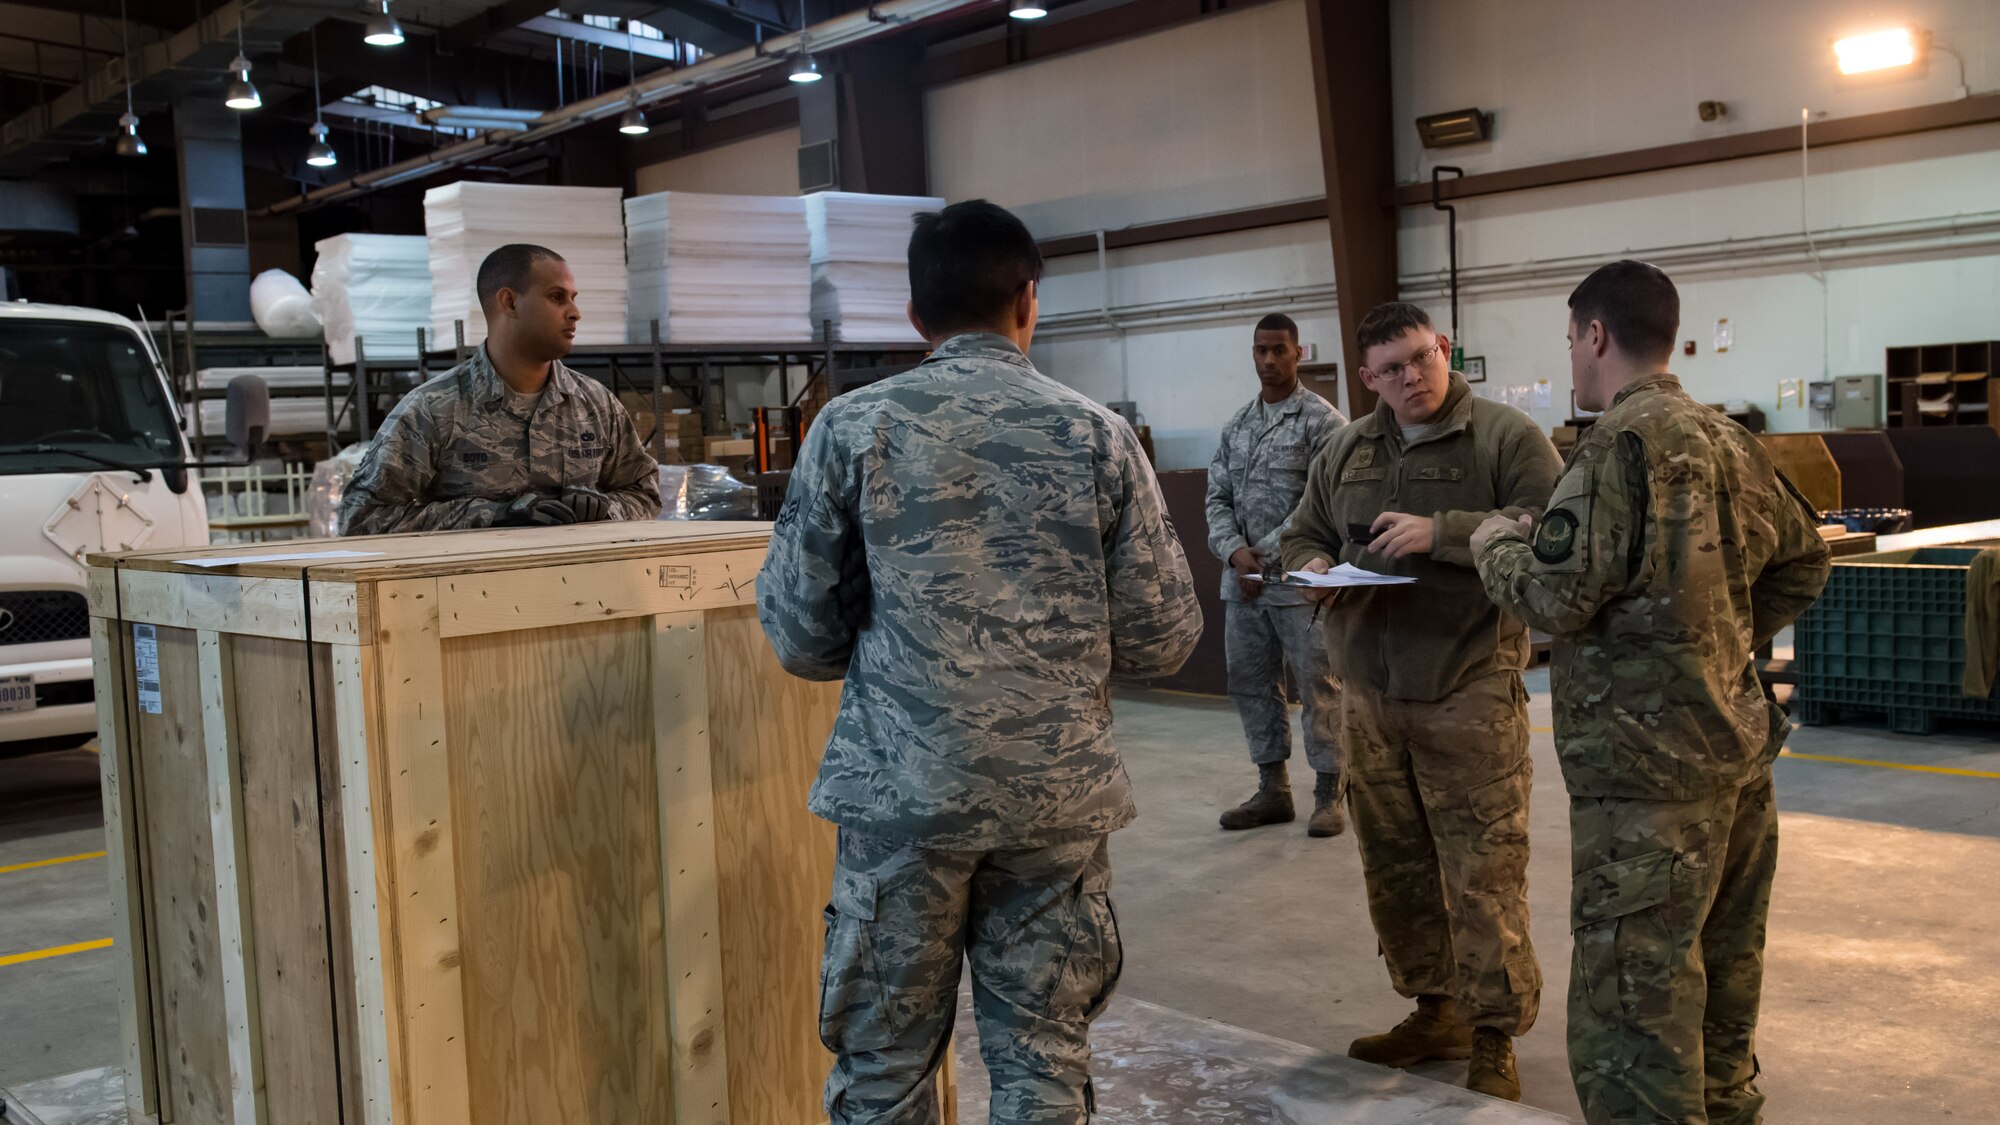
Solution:
<svg viewBox="0 0 2000 1125">
<path fill-rule="evenodd" d="M 1034 280 L 1042 280 L 1042 248 L 1006 208 L 966 200 L 916 216 L 910 304 L 928 332 L 996 326 Z"/>
</svg>

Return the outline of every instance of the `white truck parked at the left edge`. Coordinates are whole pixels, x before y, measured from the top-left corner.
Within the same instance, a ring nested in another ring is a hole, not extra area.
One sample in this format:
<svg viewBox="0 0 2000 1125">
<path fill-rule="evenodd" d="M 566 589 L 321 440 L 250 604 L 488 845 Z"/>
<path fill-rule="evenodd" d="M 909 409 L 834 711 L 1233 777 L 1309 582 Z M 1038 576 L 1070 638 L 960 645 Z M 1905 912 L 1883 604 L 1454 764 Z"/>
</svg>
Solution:
<svg viewBox="0 0 2000 1125">
<path fill-rule="evenodd" d="M 268 416 L 260 390 L 232 394 L 232 436 Z M 0 757 L 96 735 L 84 558 L 206 546 L 192 468 L 166 372 L 132 320 L 0 302 Z"/>
</svg>

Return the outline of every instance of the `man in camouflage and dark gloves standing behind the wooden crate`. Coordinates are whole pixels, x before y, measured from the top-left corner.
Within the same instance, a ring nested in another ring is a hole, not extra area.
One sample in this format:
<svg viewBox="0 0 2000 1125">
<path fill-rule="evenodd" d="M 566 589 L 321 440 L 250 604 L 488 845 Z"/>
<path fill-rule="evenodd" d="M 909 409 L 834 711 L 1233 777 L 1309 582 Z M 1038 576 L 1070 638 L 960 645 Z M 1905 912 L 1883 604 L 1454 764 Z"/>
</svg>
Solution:
<svg viewBox="0 0 2000 1125">
<path fill-rule="evenodd" d="M 660 474 L 624 406 L 562 366 L 576 278 L 554 250 L 480 262 L 488 336 L 404 396 L 340 498 L 340 534 L 660 516 Z"/>
</svg>

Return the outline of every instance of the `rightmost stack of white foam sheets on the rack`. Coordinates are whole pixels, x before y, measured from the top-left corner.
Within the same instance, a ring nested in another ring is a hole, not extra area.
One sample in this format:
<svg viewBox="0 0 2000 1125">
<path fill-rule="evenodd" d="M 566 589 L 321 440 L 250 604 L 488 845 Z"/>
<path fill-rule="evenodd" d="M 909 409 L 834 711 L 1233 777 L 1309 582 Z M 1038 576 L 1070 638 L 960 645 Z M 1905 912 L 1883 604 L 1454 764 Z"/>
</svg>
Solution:
<svg viewBox="0 0 2000 1125">
<path fill-rule="evenodd" d="M 938 210 L 930 196 L 816 192 L 806 196 L 812 230 L 812 322 L 832 320 L 836 340 L 918 340 L 910 326 L 910 220 Z"/>
</svg>

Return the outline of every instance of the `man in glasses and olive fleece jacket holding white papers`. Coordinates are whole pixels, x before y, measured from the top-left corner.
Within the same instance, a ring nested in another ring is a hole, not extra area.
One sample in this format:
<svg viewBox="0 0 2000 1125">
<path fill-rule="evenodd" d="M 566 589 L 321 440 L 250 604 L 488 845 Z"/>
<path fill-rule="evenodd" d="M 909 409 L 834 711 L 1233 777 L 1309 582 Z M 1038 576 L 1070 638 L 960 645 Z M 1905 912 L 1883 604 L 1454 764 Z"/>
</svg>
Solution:
<svg viewBox="0 0 2000 1125">
<path fill-rule="evenodd" d="M 1514 1037 L 1540 1011 L 1528 941 L 1528 629 L 1472 571 L 1472 528 L 1538 512 L 1560 472 L 1532 418 L 1476 398 L 1450 340 L 1402 302 L 1362 318 L 1374 414 L 1334 434 L 1280 536 L 1288 571 L 1352 562 L 1412 587 L 1326 605 L 1342 685 L 1348 813 L 1390 983 L 1418 1001 L 1348 1055 L 1466 1059 L 1466 1085 L 1520 1099 Z M 1322 591 L 1324 595 L 1324 591 Z"/>
</svg>

